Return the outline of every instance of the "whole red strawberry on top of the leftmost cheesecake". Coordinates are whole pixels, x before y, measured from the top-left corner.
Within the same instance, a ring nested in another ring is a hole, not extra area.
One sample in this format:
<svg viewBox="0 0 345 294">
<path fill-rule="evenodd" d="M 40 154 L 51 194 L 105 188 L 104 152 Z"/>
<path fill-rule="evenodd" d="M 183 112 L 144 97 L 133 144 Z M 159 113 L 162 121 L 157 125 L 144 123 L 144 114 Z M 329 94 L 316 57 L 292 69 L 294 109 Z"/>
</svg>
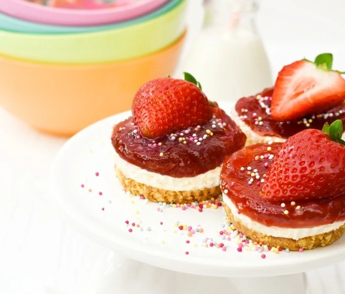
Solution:
<svg viewBox="0 0 345 294">
<path fill-rule="evenodd" d="M 201 125 L 212 118 L 212 106 L 200 83 L 188 73 L 185 80 L 164 77 L 145 83 L 134 97 L 132 112 L 134 123 L 147 138 Z"/>
</svg>

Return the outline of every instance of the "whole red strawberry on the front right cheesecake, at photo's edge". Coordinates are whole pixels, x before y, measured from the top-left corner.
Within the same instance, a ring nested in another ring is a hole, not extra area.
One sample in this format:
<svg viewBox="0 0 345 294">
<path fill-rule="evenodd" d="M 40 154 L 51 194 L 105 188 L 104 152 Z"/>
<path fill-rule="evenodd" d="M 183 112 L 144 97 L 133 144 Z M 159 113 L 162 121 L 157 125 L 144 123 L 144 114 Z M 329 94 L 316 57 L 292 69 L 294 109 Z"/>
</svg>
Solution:
<svg viewBox="0 0 345 294">
<path fill-rule="evenodd" d="M 345 194 L 343 124 L 304 130 L 283 143 L 260 195 L 268 201 L 333 198 Z"/>
</svg>

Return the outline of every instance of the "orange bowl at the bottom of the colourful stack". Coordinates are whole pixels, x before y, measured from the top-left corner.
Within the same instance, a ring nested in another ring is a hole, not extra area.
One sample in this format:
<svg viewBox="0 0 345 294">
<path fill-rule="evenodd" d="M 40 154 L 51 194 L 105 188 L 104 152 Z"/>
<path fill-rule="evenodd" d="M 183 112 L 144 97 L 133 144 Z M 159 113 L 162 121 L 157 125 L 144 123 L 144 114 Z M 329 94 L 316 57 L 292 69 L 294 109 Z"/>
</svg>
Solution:
<svg viewBox="0 0 345 294">
<path fill-rule="evenodd" d="M 0 56 L 0 105 L 39 130 L 73 135 L 130 110 L 143 83 L 173 74 L 185 35 L 159 52 L 105 64 L 48 64 Z"/>
</svg>

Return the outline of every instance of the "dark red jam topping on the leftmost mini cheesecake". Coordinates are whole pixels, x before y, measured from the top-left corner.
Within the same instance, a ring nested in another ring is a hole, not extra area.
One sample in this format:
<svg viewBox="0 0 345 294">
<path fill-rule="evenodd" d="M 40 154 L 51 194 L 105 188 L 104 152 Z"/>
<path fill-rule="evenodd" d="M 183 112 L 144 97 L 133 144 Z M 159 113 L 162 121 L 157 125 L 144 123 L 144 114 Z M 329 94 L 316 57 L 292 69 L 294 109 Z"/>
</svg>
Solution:
<svg viewBox="0 0 345 294">
<path fill-rule="evenodd" d="M 220 166 L 245 140 L 236 123 L 218 107 L 213 108 L 213 117 L 206 124 L 156 139 L 143 137 L 129 117 L 114 127 L 111 138 L 124 160 L 174 178 L 194 177 Z"/>
</svg>

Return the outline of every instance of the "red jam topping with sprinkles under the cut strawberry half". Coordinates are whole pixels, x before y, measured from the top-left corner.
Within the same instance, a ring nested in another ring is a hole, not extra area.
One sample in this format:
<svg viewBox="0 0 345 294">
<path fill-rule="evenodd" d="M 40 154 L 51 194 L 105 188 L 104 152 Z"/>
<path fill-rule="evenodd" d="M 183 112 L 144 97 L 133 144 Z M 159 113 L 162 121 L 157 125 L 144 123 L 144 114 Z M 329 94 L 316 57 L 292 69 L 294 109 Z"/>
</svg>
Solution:
<svg viewBox="0 0 345 294">
<path fill-rule="evenodd" d="M 241 98 L 235 106 L 240 118 L 261 136 L 286 139 L 305 129 L 322 130 L 326 122 L 331 124 L 336 119 L 345 123 L 345 101 L 324 113 L 307 115 L 292 121 L 276 121 L 271 117 L 272 95 L 273 88 L 268 88 L 255 96 Z"/>
</svg>

